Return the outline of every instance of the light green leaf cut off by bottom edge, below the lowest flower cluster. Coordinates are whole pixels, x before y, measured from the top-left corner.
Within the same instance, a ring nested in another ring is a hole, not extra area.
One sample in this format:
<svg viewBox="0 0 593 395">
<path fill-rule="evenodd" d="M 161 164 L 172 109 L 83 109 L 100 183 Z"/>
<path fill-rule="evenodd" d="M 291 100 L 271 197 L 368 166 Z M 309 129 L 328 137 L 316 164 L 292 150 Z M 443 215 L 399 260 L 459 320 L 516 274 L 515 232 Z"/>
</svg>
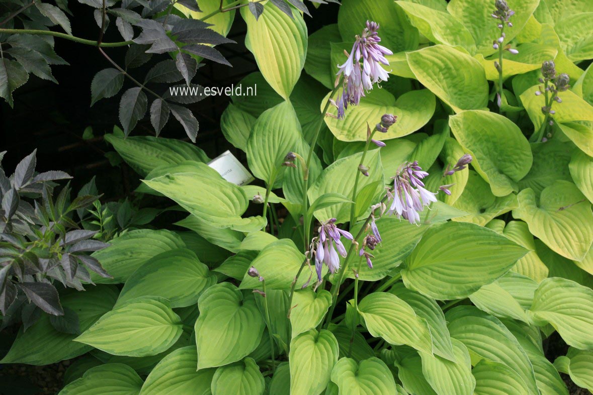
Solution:
<svg viewBox="0 0 593 395">
<path fill-rule="evenodd" d="M 318 395 L 330 382 L 338 359 L 338 344 L 329 330 L 311 329 L 291 341 L 291 395 Z"/>
</svg>

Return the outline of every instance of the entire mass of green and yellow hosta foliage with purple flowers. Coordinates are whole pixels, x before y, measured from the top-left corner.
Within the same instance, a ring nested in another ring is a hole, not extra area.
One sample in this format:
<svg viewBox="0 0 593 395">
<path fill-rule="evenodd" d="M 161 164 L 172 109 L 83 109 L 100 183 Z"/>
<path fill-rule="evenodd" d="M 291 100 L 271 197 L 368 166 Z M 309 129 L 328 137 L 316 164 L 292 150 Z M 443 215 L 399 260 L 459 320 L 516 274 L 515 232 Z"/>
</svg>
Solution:
<svg viewBox="0 0 593 395">
<path fill-rule="evenodd" d="M 343 0 L 313 33 L 279 4 L 237 2 L 258 95 L 221 118 L 258 181 L 116 127 L 170 226 L 2 363 L 84 355 L 63 395 L 593 391 L 591 2 Z"/>
</svg>

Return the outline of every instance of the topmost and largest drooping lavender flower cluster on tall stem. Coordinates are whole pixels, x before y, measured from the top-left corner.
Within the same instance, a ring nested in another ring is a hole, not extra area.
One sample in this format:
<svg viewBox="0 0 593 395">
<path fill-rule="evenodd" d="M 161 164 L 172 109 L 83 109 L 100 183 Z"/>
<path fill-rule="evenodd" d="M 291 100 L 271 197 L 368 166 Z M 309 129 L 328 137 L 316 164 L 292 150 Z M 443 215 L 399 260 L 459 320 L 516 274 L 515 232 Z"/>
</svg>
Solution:
<svg viewBox="0 0 593 395">
<path fill-rule="evenodd" d="M 373 84 L 387 81 L 389 78 L 381 64 L 389 66 L 385 55 L 391 55 L 393 52 L 379 44 L 381 38 L 377 30 L 377 23 L 366 21 L 366 28 L 361 36 L 356 36 L 352 51 L 347 53 L 348 59 L 343 65 L 338 66 L 337 75 L 344 76 L 342 95 L 336 103 L 338 119 L 344 118 L 349 104 L 358 105 L 361 97 L 365 95 L 365 90 L 370 91 Z"/>
</svg>

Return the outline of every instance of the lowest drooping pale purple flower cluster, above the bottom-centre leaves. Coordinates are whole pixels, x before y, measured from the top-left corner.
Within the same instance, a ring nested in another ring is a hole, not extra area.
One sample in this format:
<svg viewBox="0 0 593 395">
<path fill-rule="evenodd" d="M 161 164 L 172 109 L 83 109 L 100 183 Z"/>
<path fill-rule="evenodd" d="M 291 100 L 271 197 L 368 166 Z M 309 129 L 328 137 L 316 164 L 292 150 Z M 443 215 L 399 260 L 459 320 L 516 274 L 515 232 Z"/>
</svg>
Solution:
<svg viewBox="0 0 593 395">
<path fill-rule="evenodd" d="M 342 244 L 342 237 L 346 237 L 348 240 L 354 239 L 350 232 L 336 226 L 335 218 L 327 220 L 319 227 L 319 237 L 315 249 L 315 269 L 319 281 L 321 281 L 321 266 L 323 264 L 326 264 L 330 273 L 334 274 L 340 268 L 338 253 L 343 258 L 346 257 L 346 248 Z"/>
</svg>

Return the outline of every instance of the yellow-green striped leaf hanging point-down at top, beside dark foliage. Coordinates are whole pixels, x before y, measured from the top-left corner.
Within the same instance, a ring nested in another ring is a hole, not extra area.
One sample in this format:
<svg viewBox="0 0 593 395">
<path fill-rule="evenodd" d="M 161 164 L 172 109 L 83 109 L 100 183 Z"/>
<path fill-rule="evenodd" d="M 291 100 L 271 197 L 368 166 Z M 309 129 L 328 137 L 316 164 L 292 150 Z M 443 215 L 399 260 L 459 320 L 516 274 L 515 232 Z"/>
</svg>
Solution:
<svg viewBox="0 0 593 395">
<path fill-rule="evenodd" d="M 268 84 L 284 99 L 297 84 L 307 55 L 307 25 L 299 12 L 292 14 L 293 18 L 268 5 L 256 20 L 246 7 L 241 9 L 247 24 L 245 45 Z"/>
</svg>

